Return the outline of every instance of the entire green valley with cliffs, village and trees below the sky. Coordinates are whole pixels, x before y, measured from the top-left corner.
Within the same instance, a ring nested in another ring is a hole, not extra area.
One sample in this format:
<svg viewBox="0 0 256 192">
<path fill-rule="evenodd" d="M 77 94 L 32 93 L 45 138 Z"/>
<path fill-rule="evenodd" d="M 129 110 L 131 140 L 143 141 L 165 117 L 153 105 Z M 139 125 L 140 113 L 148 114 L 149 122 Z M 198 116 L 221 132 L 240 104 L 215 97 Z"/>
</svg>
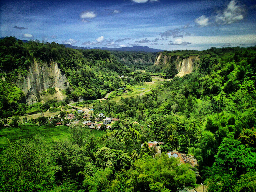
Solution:
<svg viewBox="0 0 256 192">
<path fill-rule="evenodd" d="M 0 56 L 0 191 L 253 191 L 255 46 Z"/>
</svg>

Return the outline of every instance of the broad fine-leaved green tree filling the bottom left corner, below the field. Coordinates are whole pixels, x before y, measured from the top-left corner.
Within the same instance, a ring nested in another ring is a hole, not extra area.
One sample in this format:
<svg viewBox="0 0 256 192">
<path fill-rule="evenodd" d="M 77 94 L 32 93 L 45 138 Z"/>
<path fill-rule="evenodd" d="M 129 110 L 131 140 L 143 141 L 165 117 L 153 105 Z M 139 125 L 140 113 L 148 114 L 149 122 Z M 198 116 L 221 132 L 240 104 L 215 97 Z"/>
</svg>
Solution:
<svg viewBox="0 0 256 192">
<path fill-rule="evenodd" d="M 49 191 L 58 167 L 39 140 L 18 140 L 0 156 L 0 191 Z"/>
</svg>

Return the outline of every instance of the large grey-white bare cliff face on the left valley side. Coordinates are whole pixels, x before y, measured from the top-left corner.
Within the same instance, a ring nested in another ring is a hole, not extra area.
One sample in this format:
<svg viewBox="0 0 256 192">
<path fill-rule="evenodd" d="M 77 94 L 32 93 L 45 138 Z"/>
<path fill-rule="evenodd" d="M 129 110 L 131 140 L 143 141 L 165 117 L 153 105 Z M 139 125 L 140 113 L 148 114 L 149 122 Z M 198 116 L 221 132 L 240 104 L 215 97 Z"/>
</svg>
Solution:
<svg viewBox="0 0 256 192">
<path fill-rule="evenodd" d="M 60 71 L 57 63 L 42 64 L 34 61 L 28 69 L 26 77 L 20 76 L 16 84 L 24 91 L 26 103 L 33 104 L 41 100 L 47 100 L 47 95 L 42 94 L 42 90 L 54 87 L 56 94 L 52 96 L 57 100 L 63 100 L 66 96 L 60 92 L 69 86 L 69 82 Z"/>
</svg>

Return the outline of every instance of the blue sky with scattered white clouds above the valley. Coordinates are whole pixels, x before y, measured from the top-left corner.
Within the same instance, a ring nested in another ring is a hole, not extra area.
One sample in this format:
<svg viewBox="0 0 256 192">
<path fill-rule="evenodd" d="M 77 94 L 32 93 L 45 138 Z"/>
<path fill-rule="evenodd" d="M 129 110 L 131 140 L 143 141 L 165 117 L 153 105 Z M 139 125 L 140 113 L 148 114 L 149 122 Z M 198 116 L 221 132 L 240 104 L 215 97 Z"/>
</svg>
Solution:
<svg viewBox="0 0 256 192">
<path fill-rule="evenodd" d="M 255 0 L 5 0 L 0 37 L 82 47 L 256 45 Z"/>
</svg>

